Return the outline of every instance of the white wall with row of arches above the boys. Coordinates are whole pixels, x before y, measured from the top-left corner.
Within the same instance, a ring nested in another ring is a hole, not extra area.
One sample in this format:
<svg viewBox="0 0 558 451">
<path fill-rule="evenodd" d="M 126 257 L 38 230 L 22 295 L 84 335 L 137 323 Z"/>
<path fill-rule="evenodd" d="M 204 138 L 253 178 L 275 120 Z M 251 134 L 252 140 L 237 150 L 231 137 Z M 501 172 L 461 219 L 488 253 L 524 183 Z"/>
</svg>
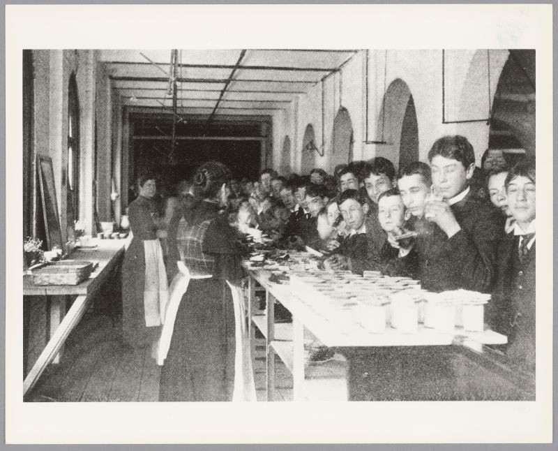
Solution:
<svg viewBox="0 0 558 451">
<path fill-rule="evenodd" d="M 300 170 L 300 148 L 303 133 L 308 124 L 314 126 L 317 145 L 324 145 L 325 154 L 317 156 L 316 166 L 329 168 L 333 119 L 340 106 L 347 108 L 354 133 L 354 159 L 369 159 L 384 155 L 394 158 L 393 145 L 366 144 L 365 133 L 365 56 L 356 54 L 340 73 L 326 78 L 324 82 L 324 142 L 322 142 L 322 85 L 313 86 L 308 94 L 298 98 L 284 114 L 278 114 L 282 127 L 275 128 L 281 135 L 275 137 L 280 145 L 274 147 L 280 153 L 282 140 L 289 130 L 291 137 L 293 170 Z M 499 75 L 508 58 L 507 50 L 490 51 L 490 96 L 493 98 Z M 488 59 L 486 50 L 452 50 L 446 52 L 445 94 L 446 121 L 488 118 Z M 385 74 L 385 75 L 384 75 Z M 368 61 L 368 140 L 380 140 L 377 125 L 382 120 L 381 110 L 384 89 L 391 82 L 401 79 L 407 84 L 414 98 L 418 122 L 419 155 L 426 161 L 428 151 L 443 135 L 465 135 L 472 143 L 477 164 L 488 147 L 490 127 L 486 122 L 469 124 L 442 124 L 442 50 L 370 50 Z M 393 127 L 393 124 L 386 124 Z M 296 128 L 296 130 L 295 130 Z M 397 139 L 397 138 L 394 138 Z M 274 158 L 280 164 L 280 156 Z"/>
</svg>

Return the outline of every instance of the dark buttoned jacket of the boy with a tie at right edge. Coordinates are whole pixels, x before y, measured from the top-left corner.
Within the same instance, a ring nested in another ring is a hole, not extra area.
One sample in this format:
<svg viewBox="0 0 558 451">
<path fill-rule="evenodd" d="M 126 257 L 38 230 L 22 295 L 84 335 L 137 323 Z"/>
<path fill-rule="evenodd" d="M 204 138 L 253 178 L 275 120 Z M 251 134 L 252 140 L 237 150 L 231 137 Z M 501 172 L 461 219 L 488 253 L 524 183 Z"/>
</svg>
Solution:
<svg viewBox="0 0 558 451">
<path fill-rule="evenodd" d="M 498 246 L 498 271 L 488 304 L 490 326 L 508 337 L 506 354 L 535 366 L 535 262 L 536 242 L 523 263 L 518 235 L 505 235 Z"/>
</svg>

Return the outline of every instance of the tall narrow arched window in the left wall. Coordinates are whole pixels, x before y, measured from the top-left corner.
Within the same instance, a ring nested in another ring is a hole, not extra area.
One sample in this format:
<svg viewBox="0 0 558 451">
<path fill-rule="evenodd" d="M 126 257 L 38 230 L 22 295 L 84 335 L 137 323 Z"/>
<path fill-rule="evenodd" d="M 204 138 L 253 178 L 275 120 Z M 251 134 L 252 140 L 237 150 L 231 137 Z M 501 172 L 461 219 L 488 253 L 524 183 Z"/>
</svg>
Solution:
<svg viewBox="0 0 558 451">
<path fill-rule="evenodd" d="M 70 75 L 68 85 L 68 202 L 68 214 L 73 216 L 72 221 L 77 221 L 80 217 L 80 103 L 75 73 Z"/>
</svg>

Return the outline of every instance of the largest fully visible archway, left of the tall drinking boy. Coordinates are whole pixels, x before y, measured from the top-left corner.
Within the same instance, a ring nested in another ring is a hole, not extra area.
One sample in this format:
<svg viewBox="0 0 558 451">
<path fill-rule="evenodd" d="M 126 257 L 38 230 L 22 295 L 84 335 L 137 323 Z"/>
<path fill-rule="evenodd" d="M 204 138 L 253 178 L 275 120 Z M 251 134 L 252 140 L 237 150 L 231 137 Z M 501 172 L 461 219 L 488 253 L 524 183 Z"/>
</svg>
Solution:
<svg viewBox="0 0 558 451">
<path fill-rule="evenodd" d="M 376 125 L 376 156 L 383 156 L 400 168 L 418 160 L 418 121 L 411 90 L 400 78 L 393 80 L 384 94 Z"/>
</svg>

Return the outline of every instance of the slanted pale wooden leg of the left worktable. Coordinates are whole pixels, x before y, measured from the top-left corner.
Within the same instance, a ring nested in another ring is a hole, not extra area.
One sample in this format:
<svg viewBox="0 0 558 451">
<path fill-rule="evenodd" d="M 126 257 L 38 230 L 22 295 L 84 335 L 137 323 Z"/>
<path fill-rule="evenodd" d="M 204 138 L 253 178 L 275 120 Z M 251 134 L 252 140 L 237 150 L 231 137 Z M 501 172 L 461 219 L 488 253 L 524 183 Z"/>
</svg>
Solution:
<svg viewBox="0 0 558 451">
<path fill-rule="evenodd" d="M 78 296 L 66 316 L 64 316 L 60 325 L 56 327 L 56 330 L 54 330 L 54 334 L 52 334 L 47 346 L 43 349 L 43 352 L 40 353 L 39 358 L 33 365 L 33 368 L 31 368 L 31 371 L 27 374 L 27 378 L 23 381 L 24 396 L 27 392 L 29 392 L 29 390 L 31 390 L 33 385 L 35 385 L 48 364 L 54 360 L 54 357 L 68 338 L 70 332 L 72 332 L 77 323 L 80 322 L 80 319 L 82 319 L 90 300 L 91 297 L 86 295 Z"/>
</svg>

